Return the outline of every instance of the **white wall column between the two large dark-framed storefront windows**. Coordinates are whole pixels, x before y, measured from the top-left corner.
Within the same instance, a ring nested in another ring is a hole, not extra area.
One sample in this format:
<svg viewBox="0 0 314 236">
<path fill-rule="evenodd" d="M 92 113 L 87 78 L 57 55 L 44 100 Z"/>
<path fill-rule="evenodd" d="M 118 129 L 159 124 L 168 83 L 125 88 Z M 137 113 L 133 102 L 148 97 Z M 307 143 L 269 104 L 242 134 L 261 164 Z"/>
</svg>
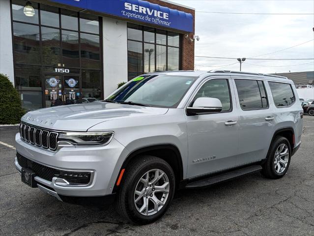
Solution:
<svg viewBox="0 0 314 236">
<path fill-rule="evenodd" d="M 128 80 L 127 24 L 103 18 L 104 97 Z"/>
</svg>

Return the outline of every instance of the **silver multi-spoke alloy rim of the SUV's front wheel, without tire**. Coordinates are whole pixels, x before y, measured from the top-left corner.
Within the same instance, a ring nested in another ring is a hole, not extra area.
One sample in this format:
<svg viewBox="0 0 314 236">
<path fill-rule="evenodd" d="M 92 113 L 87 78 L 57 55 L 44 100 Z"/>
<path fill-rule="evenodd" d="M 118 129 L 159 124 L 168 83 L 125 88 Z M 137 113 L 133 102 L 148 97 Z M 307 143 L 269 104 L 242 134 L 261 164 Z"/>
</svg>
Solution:
<svg viewBox="0 0 314 236">
<path fill-rule="evenodd" d="M 142 215 L 154 215 L 169 196 L 170 183 L 165 172 L 159 169 L 147 171 L 138 181 L 134 192 L 134 204 Z"/>
</svg>

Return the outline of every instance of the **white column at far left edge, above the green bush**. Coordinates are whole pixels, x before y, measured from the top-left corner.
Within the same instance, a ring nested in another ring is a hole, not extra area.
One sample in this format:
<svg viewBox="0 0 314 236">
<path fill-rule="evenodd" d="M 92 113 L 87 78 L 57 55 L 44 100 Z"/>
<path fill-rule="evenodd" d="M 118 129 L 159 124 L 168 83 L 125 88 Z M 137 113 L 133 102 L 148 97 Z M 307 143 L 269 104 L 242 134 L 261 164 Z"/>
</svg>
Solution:
<svg viewBox="0 0 314 236">
<path fill-rule="evenodd" d="M 10 0 L 0 0 L 0 73 L 14 85 Z"/>
</svg>

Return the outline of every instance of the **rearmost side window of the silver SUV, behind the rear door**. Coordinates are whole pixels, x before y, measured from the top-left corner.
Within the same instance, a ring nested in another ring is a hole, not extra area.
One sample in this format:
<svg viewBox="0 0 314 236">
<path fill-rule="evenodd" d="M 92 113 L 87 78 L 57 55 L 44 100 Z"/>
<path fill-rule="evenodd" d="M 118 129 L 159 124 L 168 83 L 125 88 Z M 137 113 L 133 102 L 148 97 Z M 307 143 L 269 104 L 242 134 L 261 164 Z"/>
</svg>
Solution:
<svg viewBox="0 0 314 236">
<path fill-rule="evenodd" d="M 273 94 L 276 107 L 287 107 L 295 101 L 290 84 L 283 84 L 278 82 L 268 82 L 268 84 L 271 93 Z"/>
</svg>

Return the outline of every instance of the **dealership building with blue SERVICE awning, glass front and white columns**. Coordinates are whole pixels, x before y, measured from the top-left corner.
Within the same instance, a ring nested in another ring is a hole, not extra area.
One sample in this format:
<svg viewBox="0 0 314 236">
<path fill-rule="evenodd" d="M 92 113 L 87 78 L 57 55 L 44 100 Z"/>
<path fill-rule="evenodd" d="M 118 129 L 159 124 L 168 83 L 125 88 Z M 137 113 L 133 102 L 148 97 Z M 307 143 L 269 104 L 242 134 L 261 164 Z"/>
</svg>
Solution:
<svg viewBox="0 0 314 236">
<path fill-rule="evenodd" d="M 0 73 L 28 110 L 103 99 L 146 72 L 193 70 L 194 22 L 168 0 L 0 0 Z"/>
</svg>

